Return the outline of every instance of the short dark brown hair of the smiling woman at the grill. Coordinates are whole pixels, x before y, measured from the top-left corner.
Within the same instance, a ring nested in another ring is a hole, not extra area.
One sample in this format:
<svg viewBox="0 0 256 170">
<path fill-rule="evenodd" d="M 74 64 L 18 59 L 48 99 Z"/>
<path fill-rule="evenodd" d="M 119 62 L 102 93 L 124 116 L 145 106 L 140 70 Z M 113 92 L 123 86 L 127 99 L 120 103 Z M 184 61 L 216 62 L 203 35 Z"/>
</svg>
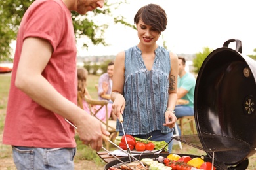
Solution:
<svg viewBox="0 0 256 170">
<path fill-rule="evenodd" d="M 164 31 L 167 26 L 167 15 L 160 5 L 150 3 L 141 7 L 135 14 L 134 23 L 138 24 L 140 19 L 158 30 L 158 33 Z"/>
</svg>

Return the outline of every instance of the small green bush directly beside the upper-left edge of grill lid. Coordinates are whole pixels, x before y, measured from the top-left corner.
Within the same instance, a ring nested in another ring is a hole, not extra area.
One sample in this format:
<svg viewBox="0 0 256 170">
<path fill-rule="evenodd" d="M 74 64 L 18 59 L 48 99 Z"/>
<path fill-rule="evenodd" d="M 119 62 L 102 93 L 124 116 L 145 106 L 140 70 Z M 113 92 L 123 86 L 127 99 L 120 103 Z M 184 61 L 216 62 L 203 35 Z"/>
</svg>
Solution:
<svg viewBox="0 0 256 170">
<path fill-rule="evenodd" d="M 203 48 L 203 52 L 198 52 L 196 53 L 196 58 L 193 59 L 193 66 L 194 66 L 194 73 L 198 73 L 203 61 L 205 60 L 205 58 L 207 58 L 207 56 L 212 52 L 213 50 L 211 50 L 208 47 L 204 47 Z"/>
</svg>

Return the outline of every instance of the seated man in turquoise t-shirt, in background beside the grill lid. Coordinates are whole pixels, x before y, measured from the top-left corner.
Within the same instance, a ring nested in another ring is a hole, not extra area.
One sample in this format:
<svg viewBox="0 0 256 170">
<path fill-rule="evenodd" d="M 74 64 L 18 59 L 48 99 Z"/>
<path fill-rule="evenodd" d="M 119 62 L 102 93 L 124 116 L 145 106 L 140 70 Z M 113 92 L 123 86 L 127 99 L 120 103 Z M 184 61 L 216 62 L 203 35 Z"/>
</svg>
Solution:
<svg viewBox="0 0 256 170">
<path fill-rule="evenodd" d="M 191 74 L 186 72 L 186 59 L 179 56 L 179 77 L 178 77 L 178 99 L 188 100 L 189 103 L 186 105 L 177 105 L 175 107 L 176 117 L 182 118 L 183 116 L 193 116 L 194 115 L 194 90 L 196 86 L 196 78 Z M 181 129 L 179 129 L 179 134 L 181 134 Z"/>
</svg>

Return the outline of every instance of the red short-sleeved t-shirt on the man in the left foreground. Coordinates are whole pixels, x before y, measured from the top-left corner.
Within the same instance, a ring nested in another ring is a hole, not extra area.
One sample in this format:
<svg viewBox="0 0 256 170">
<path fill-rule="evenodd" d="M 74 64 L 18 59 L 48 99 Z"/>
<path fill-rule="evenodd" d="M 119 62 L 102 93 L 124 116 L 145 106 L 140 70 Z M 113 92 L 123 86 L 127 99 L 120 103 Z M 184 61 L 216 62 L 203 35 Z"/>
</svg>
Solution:
<svg viewBox="0 0 256 170">
<path fill-rule="evenodd" d="M 28 37 L 40 37 L 51 43 L 53 54 L 43 76 L 64 97 L 77 103 L 77 50 L 71 13 L 61 0 L 37 0 L 24 14 L 18 32 L 3 144 L 75 147 L 74 127 L 14 86 L 22 44 Z"/>
</svg>

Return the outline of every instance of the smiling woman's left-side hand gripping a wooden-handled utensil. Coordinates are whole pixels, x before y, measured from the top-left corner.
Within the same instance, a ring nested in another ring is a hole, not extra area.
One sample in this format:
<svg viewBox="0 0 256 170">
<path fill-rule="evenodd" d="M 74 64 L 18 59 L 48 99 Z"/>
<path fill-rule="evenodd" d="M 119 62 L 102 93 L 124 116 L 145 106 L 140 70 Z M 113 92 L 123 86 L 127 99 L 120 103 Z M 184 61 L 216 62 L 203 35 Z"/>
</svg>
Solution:
<svg viewBox="0 0 256 170">
<path fill-rule="evenodd" d="M 120 93 L 115 93 L 115 101 L 112 104 L 112 109 L 116 117 L 119 119 L 119 115 L 123 114 L 125 110 L 125 98 Z"/>
</svg>

